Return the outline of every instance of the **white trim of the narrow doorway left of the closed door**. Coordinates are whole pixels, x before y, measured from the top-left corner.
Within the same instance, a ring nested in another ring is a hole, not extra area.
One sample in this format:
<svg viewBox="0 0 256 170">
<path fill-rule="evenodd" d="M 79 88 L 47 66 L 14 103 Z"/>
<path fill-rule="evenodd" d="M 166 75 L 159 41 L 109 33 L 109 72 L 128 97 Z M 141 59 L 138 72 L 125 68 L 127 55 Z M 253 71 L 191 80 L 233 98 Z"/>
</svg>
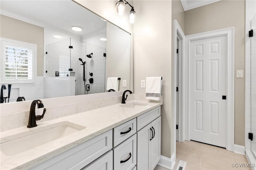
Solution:
<svg viewBox="0 0 256 170">
<path fill-rule="evenodd" d="M 173 65 L 172 65 L 172 113 L 173 113 L 173 115 L 174 115 L 174 119 L 173 119 L 173 130 L 174 130 L 174 134 L 173 134 L 173 148 L 174 148 L 174 160 L 176 159 L 176 84 L 177 84 L 177 82 L 176 82 L 176 80 L 177 80 L 177 71 L 176 71 L 176 49 L 177 49 L 177 38 L 179 38 L 179 40 L 180 40 L 180 69 L 183 69 L 184 71 L 182 71 L 182 73 L 184 73 L 184 72 L 186 72 L 186 67 L 185 67 L 185 60 L 184 60 L 184 56 L 185 56 L 185 34 L 183 33 L 183 31 L 182 31 L 182 29 L 181 29 L 181 27 L 180 27 L 180 25 L 179 25 L 179 23 L 178 23 L 178 21 L 177 20 L 173 20 L 173 22 L 172 22 L 172 24 L 173 24 L 173 32 L 174 32 L 174 38 L 173 38 L 173 42 L 172 42 L 172 44 L 173 44 L 173 50 L 172 50 L 172 52 L 173 52 L 173 56 L 174 56 L 174 58 L 173 58 L 173 60 L 172 60 L 172 62 L 173 62 Z M 180 87 L 179 87 L 179 89 L 180 89 L 180 91 L 184 91 L 184 89 L 185 89 L 185 77 L 183 76 L 182 77 L 182 73 L 180 74 L 181 75 L 181 77 L 180 77 Z M 180 93 L 181 94 L 181 93 Z M 180 102 L 179 102 L 179 104 L 180 103 L 183 103 L 183 105 L 185 105 L 185 103 L 184 103 L 184 99 L 186 99 L 185 98 L 185 93 L 182 93 L 182 96 L 180 95 L 180 97 L 179 97 L 179 100 L 180 100 Z M 184 115 L 185 115 L 185 112 L 184 112 L 184 109 L 183 108 L 181 108 L 180 109 L 180 111 L 181 111 L 181 114 L 180 114 L 180 130 L 179 130 L 179 141 L 184 141 L 185 140 L 185 138 L 184 138 L 184 136 L 185 136 L 185 128 L 184 128 L 184 126 L 182 126 L 182 125 L 185 125 L 185 122 L 184 123 L 182 123 L 182 120 L 185 120 L 185 119 L 183 119 L 183 118 L 185 118 L 184 117 Z"/>
</svg>

